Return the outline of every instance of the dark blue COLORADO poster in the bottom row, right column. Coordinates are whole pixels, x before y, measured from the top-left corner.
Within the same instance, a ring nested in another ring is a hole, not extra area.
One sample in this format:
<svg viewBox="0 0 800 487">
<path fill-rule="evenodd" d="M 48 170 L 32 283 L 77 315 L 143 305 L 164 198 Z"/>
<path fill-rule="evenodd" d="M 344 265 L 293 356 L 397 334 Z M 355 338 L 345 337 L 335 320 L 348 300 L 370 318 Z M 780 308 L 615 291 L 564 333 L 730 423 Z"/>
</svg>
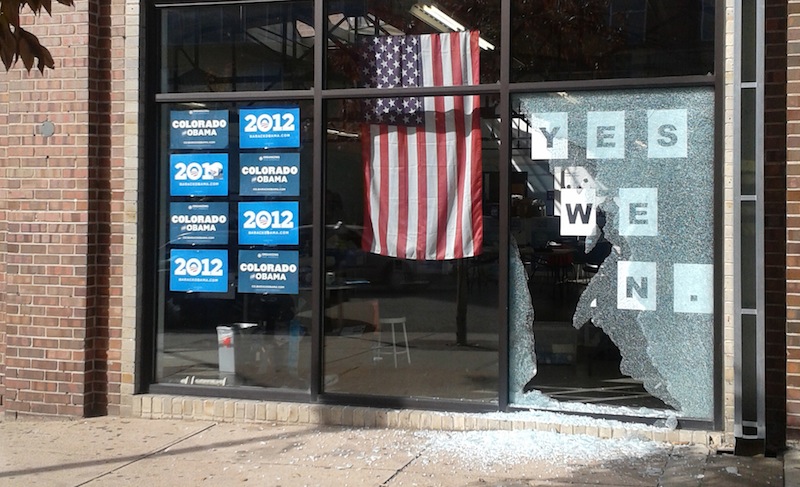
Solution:
<svg viewBox="0 0 800 487">
<path fill-rule="evenodd" d="M 290 250 L 240 250 L 240 293 L 297 294 L 299 257 Z"/>
</svg>

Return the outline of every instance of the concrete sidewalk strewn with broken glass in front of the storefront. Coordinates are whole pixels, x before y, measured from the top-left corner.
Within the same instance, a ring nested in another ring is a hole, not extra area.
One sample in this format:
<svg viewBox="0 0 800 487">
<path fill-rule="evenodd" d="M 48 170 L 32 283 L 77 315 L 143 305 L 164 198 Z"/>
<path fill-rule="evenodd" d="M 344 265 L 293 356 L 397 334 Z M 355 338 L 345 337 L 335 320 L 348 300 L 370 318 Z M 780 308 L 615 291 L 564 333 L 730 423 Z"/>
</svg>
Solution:
<svg viewBox="0 0 800 487">
<path fill-rule="evenodd" d="M 536 431 L 27 419 L 0 422 L 0 486 L 797 487 L 797 453 L 736 457 Z"/>
</svg>

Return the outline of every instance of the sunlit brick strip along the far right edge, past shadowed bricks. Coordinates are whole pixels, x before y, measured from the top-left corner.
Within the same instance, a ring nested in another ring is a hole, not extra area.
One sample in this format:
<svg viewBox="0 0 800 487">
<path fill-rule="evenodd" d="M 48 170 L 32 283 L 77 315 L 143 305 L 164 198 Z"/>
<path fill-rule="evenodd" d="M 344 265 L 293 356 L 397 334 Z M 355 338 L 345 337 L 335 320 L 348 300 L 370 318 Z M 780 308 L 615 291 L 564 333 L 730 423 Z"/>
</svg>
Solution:
<svg viewBox="0 0 800 487">
<path fill-rule="evenodd" d="M 800 1 L 790 0 L 787 9 L 786 434 L 797 440 L 800 439 Z"/>
</svg>

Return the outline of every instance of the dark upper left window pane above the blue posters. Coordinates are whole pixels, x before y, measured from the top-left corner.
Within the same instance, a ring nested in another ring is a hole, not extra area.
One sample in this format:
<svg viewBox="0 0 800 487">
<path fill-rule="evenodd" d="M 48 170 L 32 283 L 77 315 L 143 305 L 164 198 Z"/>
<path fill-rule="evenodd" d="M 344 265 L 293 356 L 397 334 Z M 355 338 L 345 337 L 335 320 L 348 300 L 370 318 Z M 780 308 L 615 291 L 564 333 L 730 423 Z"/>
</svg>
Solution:
<svg viewBox="0 0 800 487">
<path fill-rule="evenodd" d="M 162 17 L 161 91 L 308 89 L 313 2 L 171 8 Z"/>
</svg>

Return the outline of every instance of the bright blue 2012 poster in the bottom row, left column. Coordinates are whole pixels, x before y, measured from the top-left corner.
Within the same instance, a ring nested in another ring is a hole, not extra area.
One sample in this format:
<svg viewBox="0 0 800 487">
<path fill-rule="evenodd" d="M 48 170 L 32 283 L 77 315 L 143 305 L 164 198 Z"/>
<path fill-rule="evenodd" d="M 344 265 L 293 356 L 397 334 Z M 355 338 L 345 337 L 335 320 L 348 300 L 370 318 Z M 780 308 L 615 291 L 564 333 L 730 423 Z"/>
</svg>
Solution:
<svg viewBox="0 0 800 487">
<path fill-rule="evenodd" d="M 169 257 L 170 291 L 228 292 L 227 250 L 172 249 Z"/>
</svg>

